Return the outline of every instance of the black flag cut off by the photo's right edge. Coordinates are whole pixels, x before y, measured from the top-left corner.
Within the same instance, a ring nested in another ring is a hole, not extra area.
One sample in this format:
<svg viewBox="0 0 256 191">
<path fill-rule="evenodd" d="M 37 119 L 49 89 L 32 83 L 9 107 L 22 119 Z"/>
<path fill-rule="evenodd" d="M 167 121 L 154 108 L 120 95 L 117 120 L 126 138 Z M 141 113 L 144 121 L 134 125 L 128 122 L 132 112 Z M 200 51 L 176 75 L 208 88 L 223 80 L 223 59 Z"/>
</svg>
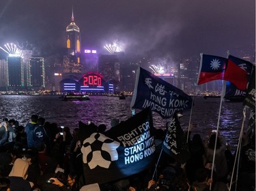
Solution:
<svg viewBox="0 0 256 191">
<path fill-rule="evenodd" d="M 244 105 L 247 105 L 251 109 L 255 110 L 255 66 L 253 66 L 253 74 L 246 90 L 246 97 L 244 99 Z"/>
</svg>

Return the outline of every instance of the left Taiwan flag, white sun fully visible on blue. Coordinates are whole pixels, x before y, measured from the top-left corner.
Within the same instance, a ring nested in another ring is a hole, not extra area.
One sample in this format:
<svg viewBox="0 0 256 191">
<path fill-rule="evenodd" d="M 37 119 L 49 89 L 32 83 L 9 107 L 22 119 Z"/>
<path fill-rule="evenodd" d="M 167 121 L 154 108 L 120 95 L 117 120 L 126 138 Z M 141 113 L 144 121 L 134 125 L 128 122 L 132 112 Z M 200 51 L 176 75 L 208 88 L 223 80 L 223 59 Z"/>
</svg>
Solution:
<svg viewBox="0 0 256 191">
<path fill-rule="evenodd" d="M 202 54 L 197 77 L 197 85 L 213 80 L 223 80 L 226 65 L 227 58 Z"/>
</svg>

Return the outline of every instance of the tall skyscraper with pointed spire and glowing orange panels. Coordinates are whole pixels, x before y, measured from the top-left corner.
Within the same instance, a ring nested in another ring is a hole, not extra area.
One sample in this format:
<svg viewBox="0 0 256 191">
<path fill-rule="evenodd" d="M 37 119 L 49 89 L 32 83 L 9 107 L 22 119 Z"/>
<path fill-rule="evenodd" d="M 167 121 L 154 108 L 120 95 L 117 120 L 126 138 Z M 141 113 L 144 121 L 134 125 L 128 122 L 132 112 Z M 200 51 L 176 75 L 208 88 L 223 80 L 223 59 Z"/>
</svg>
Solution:
<svg viewBox="0 0 256 191">
<path fill-rule="evenodd" d="M 81 34 L 80 29 L 74 22 L 74 12 L 72 8 L 72 18 L 66 27 L 66 55 L 63 56 L 63 74 L 81 75 Z"/>
</svg>

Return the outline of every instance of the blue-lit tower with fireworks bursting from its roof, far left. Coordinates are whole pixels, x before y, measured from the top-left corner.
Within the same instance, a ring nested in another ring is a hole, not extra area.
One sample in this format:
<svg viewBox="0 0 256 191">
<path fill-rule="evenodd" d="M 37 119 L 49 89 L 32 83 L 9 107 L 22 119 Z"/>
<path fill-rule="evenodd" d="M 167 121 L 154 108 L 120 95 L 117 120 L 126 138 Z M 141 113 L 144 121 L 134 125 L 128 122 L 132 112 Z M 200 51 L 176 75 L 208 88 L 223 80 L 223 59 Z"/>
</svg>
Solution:
<svg viewBox="0 0 256 191">
<path fill-rule="evenodd" d="M 20 56 L 8 56 L 8 82 L 9 90 L 20 90 L 24 87 L 24 67 L 23 58 Z"/>
</svg>

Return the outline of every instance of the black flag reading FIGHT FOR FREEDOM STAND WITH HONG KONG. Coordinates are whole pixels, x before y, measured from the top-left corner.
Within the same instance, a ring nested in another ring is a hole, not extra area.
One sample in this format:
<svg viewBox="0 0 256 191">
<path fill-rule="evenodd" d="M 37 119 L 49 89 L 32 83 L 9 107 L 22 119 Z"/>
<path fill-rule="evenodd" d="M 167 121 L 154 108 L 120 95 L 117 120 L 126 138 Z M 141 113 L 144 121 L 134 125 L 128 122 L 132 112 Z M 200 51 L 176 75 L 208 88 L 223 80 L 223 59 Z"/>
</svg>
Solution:
<svg viewBox="0 0 256 191">
<path fill-rule="evenodd" d="M 150 108 L 98 133 L 79 122 L 85 184 L 102 184 L 144 171 L 154 162 L 155 145 Z"/>
</svg>

